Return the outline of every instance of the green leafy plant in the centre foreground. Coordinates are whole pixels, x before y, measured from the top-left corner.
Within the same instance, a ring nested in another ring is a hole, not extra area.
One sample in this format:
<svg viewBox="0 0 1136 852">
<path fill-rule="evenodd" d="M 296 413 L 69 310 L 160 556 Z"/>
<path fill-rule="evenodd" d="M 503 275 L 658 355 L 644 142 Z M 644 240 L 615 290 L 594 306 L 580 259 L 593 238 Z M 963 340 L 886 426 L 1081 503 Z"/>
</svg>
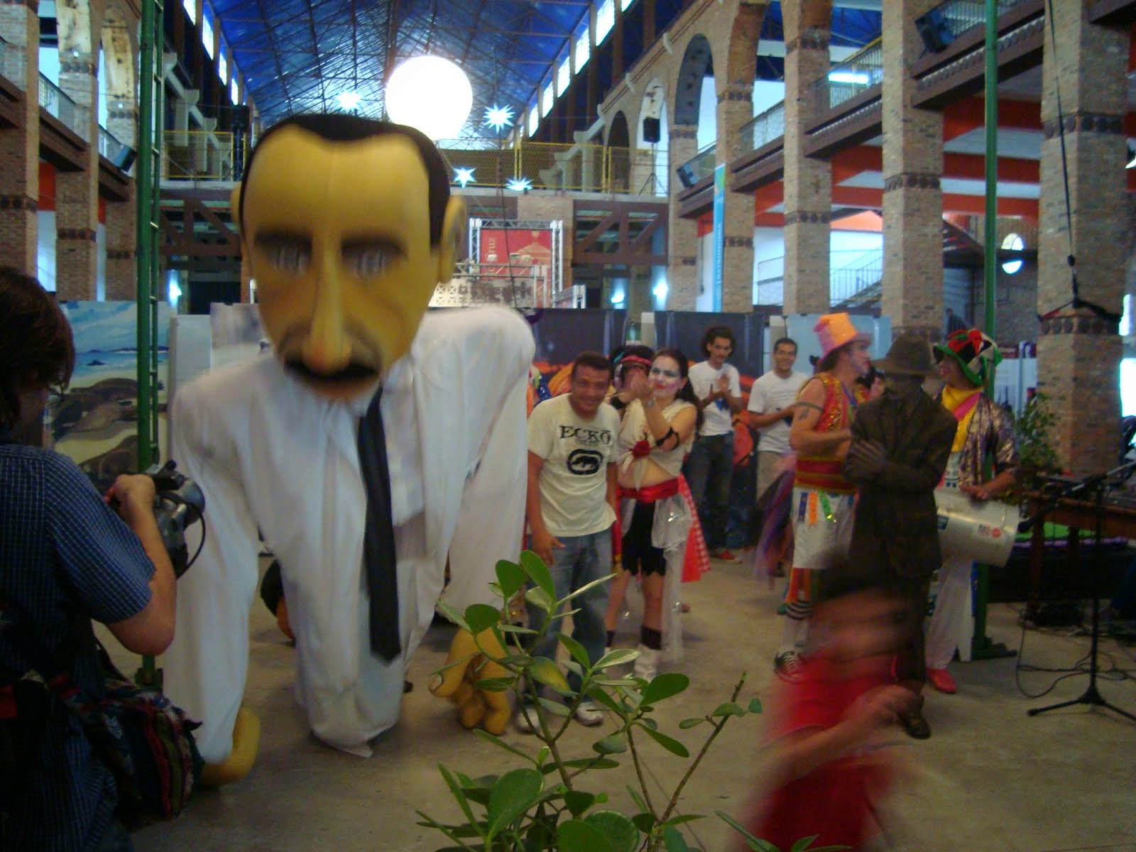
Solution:
<svg viewBox="0 0 1136 852">
<path fill-rule="evenodd" d="M 567 651 L 565 666 L 580 677 L 580 690 L 574 692 L 561 668 L 551 659 L 529 655 L 521 643 L 521 636 L 536 635 L 550 629 L 553 624 L 571 615 L 565 604 L 610 577 L 576 590 L 567 598 L 557 600 L 552 575 L 541 559 L 529 551 L 520 556 L 520 562 L 502 560 L 496 565 L 498 582 L 492 584 L 494 593 L 501 598 L 500 609 L 487 604 L 474 604 L 463 613 L 446 608 L 446 615 L 474 636 L 484 630 L 492 632 L 506 649 L 504 655 L 493 653 L 478 642 L 486 658 L 500 663 L 508 675 L 485 678 L 476 687 L 490 691 L 512 691 L 518 700 L 527 694 L 532 703 L 529 712 L 536 716 L 535 737 L 540 743 L 535 751 L 516 747 L 502 738 L 484 730 L 477 735 L 500 749 L 520 758 L 526 766 L 503 775 L 471 778 L 444 766 L 438 769 L 450 793 L 457 801 L 463 822 L 443 824 L 418 811 L 419 825 L 443 833 L 453 845 L 451 850 L 478 850 L 483 852 L 509 852 L 512 850 L 537 852 L 559 850 L 560 852 L 694 852 L 687 845 L 679 827 L 703 815 L 679 815 L 679 795 L 692 775 L 702 762 L 713 741 L 734 717 L 761 712 L 758 699 L 744 707 L 737 698 L 745 684 L 743 674 L 734 686 L 728 701 L 712 712 L 692 717 L 679 722 L 686 730 L 708 726 L 708 733 L 685 772 L 666 797 L 654 799 L 646 785 L 643 746 L 653 741 L 659 746 L 680 758 L 690 758 L 691 752 L 677 738 L 659 729 L 653 711 L 659 703 L 680 694 L 690 685 L 690 678 L 678 673 L 663 673 L 651 682 L 635 677 L 617 677 L 610 673 L 616 666 L 633 661 L 637 651 L 618 649 L 591 663 L 584 648 L 570 636 L 558 633 L 559 644 Z M 532 586 L 525 599 L 543 612 L 540 629 L 519 627 L 508 621 L 508 601 L 524 587 Z M 460 663 L 454 663 L 460 665 Z M 556 693 L 562 701 L 544 698 L 538 687 Z M 616 729 L 592 744 L 591 754 L 569 757 L 563 752 L 561 737 L 567 730 L 573 713 L 584 699 L 591 699 L 610 712 Z M 632 801 L 637 809 L 627 816 L 611 808 L 605 793 L 593 793 L 582 788 L 585 772 L 611 769 L 619 766 L 616 755 L 627 754 L 635 768 L 638 790 L 628 786 Z M 730 825 L 736 824 L 727 819 Z M 741 829 L 741 826 L 736 826 Z M 746 835 L 744 829 L 741 829 Z M 763 841 L 746 835 L 751 849 L 776 852 Z M 794 845 L 793 852 L 802 852 L 812 842 L 803 841 Z M 441 852 L 441 851 L 440 851 Z M 809 852 L 820 852 L 810 850 Z"/>
</svg>

